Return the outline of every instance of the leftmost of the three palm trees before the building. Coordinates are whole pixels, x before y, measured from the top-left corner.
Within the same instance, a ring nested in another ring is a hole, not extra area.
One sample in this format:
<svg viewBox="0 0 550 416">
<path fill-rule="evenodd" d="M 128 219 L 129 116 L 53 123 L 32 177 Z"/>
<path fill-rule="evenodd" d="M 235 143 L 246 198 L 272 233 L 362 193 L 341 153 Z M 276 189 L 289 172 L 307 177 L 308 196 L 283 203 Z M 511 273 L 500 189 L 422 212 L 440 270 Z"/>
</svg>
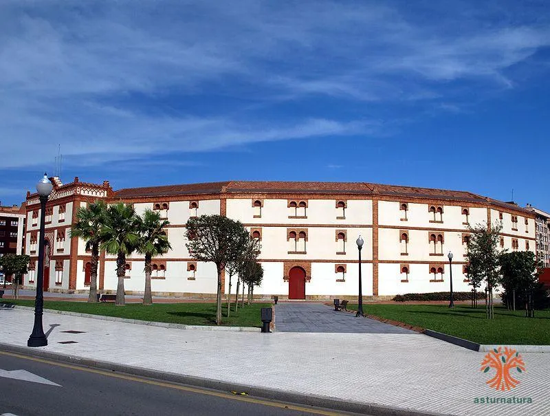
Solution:
<svg viewBox="0 0 550 416">
<path fill-rule="evenodd" d="M 104 201 L 96 201 L 87 207 L 80 207 L 76 212 L 76 222 L 71 228 L 71 238 L 83 239 L 86 250 L 91 251 L 90 294 L 88 302 L 98 301 L 98 263 L 100 230 L 105 221 L 107 205 Z"/>
</svg>

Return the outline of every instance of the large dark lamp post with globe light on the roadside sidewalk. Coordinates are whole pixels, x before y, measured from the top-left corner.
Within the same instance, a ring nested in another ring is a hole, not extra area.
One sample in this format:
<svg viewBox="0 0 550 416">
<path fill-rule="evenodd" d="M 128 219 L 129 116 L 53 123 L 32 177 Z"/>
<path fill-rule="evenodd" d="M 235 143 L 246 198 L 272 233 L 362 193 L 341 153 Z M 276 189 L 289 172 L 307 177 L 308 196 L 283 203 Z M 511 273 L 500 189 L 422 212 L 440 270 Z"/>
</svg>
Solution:
<svg viewBox="0 0 550 416">
<path fill-rule="evenodd" d="M 40 237 L 39 237 L 39 273 L 36 277 L 36 300 L 34 301 L 34 328 L 27 341 L 28 347 L 45 347 L 47 338 L 42 329 L 42 315 L 44 309 L 44 222 L 46 217 L 47 197 L 52 193 L 54 186 L 47 175 L 36 184 L 36 190 L 40 197 Z"/>
</svg>

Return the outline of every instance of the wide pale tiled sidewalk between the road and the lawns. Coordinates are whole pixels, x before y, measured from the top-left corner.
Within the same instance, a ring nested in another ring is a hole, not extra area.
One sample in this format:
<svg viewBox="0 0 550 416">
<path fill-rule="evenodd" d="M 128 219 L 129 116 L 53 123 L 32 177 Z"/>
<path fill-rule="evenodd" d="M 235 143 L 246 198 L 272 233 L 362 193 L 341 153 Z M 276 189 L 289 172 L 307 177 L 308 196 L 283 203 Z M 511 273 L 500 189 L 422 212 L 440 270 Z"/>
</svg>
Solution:
<svg viewBox="0 0 550 416">
<path fill-rule="evenodd" d="M 485 384 L 493 373 L 480 371 L 484 353 L 419 333 L 194 331 L 46 313 L 49 345 L 28 349 L 33 318 L 32 311 L 0 309 L 0 349 L 48 351 L 83 364 L 317 406 L 340 401 L 342 410 L 372 414 L 390 406 L 395 413 L 385 414 L 550 415 L 550 355 L 544 353 L 522 353 L 527 371 L 514 374 L 519 386 L 496 392 Z M 63 332 L 70 330 L 83 333 Z M 67 341 L 74 343 L 60 343 Z M 531 397 L 532 403 L 474 404 L 487 396 Z"/>
</svg>

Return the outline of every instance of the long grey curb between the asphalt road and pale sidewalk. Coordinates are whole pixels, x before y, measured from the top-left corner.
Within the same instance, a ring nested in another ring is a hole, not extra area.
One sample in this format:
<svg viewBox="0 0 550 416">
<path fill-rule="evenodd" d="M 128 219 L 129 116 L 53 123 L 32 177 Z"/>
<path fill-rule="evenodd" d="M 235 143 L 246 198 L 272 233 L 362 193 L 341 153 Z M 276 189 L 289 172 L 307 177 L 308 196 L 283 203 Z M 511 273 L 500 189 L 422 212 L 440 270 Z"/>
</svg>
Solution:
<svg viewBox="0 0 550 416">
<path fill-rule="evenodd" d="M 305 395 L 300 393 L 290 393 L 276 388 L 263 388 L 256 386 L 248 386 L 246 384 L 237 384 L 223 382 L 221 380 L 212 380 L 203 377 L 195 377 L 191 375 L 183 375 L 177 373 L 166 373 L 163 371 L 154 371 L 141 367 L 124 366 L 107 361 L 88 360 L 78 358 L 72 355 L 52 353 L 44 349 L 36 349 L 30 347 L 19 347 L 17 345 L 4 344 L 0 342 L 0 349 L 14 353 L 23 353 L 35 357 L 50 358 L 52 360 L 70 362 L 81 366 L 95 367 L 97 369 L 118 371 L 140 377 L 148 377 L 166 382 L 175 382 L 180 384 L 188 384 L 201 388 L 210 388 L 217 391 L 242 391 L 249 396 L 262 397 L 264 399 L 272 399 L 278 402 L 288 402 L 292 404 L 302 404 L 306 406 L 315 406 L 320 408 L 329 408 L 351 413 L 363 413 L 375 416 L 452 416 L 451 413 L 433 413 L 421 412 L 406 408 L 397 408 L 393 406 L 384 406 L 382 404 L 349 402 L 344 399 L 336 399 L 329 396 Z"/>
</svg>

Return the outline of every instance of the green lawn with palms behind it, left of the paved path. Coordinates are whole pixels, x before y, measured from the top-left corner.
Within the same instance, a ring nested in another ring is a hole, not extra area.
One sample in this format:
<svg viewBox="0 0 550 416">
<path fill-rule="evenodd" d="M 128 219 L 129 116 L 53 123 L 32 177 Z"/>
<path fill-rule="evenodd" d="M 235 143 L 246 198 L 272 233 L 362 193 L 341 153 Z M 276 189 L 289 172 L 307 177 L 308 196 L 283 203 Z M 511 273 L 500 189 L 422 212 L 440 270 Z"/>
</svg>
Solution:
<svg viewBox="0 0 550 416">
<path fill-rule="evenodd" d="M 15 303 L 23 306 L 34 306 L 34 300 L 5 300 L 4 303 Z M 270 303 L 252 303 L 237 312 L 231 311 L 226 318 L 227 303 L 222 306 L 223 325 L 231 327 L 261 327 L 261 308 L 270 307 Z M 126 303 L 126 306 L 115 306 L 114 303 L 56 302 L 44 301 L 45 309 L 73 311 L 81 314 L 116 316 L 170 322 L 184 325 L 214 325 L 216 317 L 215 303 L 155 303 L 144 306 L 141 303 Z"/>
</svg>

